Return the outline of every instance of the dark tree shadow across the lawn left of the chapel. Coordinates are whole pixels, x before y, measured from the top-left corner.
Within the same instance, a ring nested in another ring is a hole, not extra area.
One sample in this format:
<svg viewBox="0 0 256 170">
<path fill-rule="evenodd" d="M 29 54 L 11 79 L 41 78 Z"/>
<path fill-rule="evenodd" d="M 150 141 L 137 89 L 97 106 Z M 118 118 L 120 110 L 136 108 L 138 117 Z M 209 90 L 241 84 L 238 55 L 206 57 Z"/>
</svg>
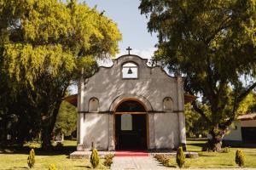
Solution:
<svg viewBox="0 0 256 170">
<path fill-rule="evenodd" d="M 11 147 L 7 148 L 6 150 L 10 150 L 8 152 L 3 152 L 2 154 L 24 154 L 28 155 L 29 151 L 32 148 L 29 148 L 28 146 L 25 147 Z M 69 158 L 69 155 L 76 150 L 76 146 L 63 146 L 61 148 L 56 149 L 55 147 L 52 148 L 52 150 L 42 150 L 41 148 L 35 148 L 35 153 L 37 156 L 60 156 L 60 155 L 66 155 L 67 158 Z"/>
</svg>

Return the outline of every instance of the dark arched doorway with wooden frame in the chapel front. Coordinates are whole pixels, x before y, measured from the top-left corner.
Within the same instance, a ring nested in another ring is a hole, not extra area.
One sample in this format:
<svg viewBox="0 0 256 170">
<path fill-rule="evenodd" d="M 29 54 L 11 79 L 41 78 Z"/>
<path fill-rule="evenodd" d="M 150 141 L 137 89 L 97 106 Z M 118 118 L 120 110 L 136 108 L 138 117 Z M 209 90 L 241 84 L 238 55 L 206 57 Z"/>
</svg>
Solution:
<svg viewBox="0 0 256 170">
<path fill-rule="evenodd" d="M 115 149 L 145 150 L 148 138 L 148 116 L 137 100 L 125 100 L 115 109 Z"/>
</svg>

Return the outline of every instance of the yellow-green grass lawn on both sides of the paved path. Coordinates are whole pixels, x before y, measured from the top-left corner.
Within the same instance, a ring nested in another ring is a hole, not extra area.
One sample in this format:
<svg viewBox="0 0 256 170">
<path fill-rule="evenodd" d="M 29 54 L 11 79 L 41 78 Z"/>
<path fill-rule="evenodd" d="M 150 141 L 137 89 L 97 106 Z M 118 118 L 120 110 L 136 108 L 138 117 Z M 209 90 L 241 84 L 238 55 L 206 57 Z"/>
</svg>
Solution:
<svg viewBox="0 0 256 170">
<path fill-rule="evenodd" d="M 206 141 L 188 142 L 188 150 L 199 153 L 198 158 L 187 158 L 186 167 L 189 168 L 206 168 L 206 167 L 225 167 L 238 168 L 235 163 L 235 154 L 237 149 L 241 149 L 245 153 L 245 167 L 256 167 L 256 148 L 230 148 L 230 153 L 215 153 L 202 152 L 201 146 Z M 31 144 L 30 144 L 31 145 Z M 36 163 L 32 169 L 48 169 L 49 164 L 54 163 L 58 169 L 91 169 L 89 160 L 71 160 L 69 154 L 76 150 L 76 141 L 65 141 L 64 149 L 61 151 L 45 152 L 38 149 L 39 145 L 34 145 L 36 148 Z M 29 148 L 15 150 L 11 153 L 0 154 L 0 169 L 25 169 L 27 168 L 26 159 L 29 153 Z M 100 166 L 97 169 L 109 169 L 104 167 L 100 161 Z M 175 158 L 170 159 L 170 167 L 177 167 Z"/>
</svg>

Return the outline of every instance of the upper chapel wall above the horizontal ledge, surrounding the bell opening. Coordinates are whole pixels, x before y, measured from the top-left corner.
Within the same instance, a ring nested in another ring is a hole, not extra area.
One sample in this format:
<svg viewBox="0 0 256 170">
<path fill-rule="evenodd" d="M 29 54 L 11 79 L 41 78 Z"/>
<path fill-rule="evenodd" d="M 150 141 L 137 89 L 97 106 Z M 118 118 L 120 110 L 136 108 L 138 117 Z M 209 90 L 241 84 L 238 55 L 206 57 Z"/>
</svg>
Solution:
<svg viewBox="0 0 256 170">
<path fill-rule="evenodd" d="M 138 79 L 123 79 L 121 67 L 127 61 L 138 65 Z M 123 56 L 113 61 L 111 68 L 100 67 L 96 74 L 84 81 L 84 105 L 80 111 L 88 111 L 91 98 L 99 99 L 100 110 L 109 107 L 120 95 L 136 94 L 148 99 L 154 111 L 163 111 L 163 99 L 171 97 L 173 109 L 177 111 L 177 80 L 169 77 L 160 67 L 150 68 L 146 59 L 137 56 Z"/>
</svg>

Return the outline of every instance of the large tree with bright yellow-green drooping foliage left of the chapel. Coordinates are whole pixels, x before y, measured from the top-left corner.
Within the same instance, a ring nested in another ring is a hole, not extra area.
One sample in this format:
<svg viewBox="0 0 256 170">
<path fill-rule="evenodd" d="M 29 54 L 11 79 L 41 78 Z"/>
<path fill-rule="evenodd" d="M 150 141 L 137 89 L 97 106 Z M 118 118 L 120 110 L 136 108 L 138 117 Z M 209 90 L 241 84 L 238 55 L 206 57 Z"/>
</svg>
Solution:
<svg viewBox="0 0 256 170">
<path fill-rule="evenodd" d="M 93 74 L 96 58 L 117 53 L 119 40 L 116 24 L 84 3 L 0 0 L 1 117 L 25 125 L 20 142 L 41 132 L 43 149 L 51 146 L 68 86 Z"/>
</svg>

